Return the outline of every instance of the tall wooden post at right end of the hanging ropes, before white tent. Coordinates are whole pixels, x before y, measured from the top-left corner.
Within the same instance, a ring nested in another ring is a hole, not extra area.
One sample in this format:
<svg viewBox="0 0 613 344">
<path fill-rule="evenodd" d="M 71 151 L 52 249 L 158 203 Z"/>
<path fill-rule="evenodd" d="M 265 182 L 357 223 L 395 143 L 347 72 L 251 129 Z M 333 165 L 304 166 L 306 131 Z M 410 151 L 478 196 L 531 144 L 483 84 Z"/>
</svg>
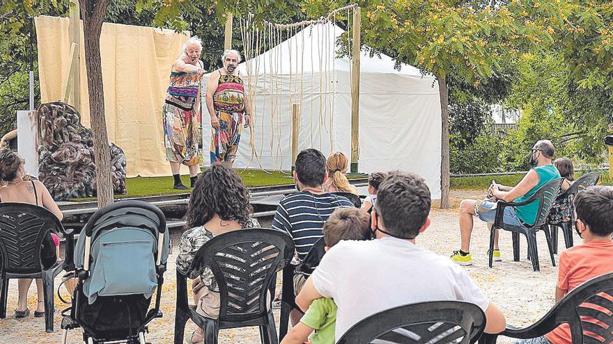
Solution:
<svg viewBox="0 0 613 344">
<path fill-rule="evenodd" d="M 360 27 L 362 26 L 361 9 L 355 8 L 353 12 L 353 61 L 351 76 L 351 173 L 357 173 L 359 160 L 359 57 Z"/>
</svg>

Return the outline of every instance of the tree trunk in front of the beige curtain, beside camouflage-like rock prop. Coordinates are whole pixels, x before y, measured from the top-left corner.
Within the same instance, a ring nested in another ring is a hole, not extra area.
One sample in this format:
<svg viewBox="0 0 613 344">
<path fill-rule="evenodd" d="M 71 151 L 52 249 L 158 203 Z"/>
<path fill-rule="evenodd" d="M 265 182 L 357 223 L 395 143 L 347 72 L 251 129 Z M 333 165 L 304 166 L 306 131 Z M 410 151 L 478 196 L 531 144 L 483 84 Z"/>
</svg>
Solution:
<svg viewBox="0 0 613 344">
<path fill-rule="evenodd" d="M 102 63 L 100 62 L 100 32 L 109 2 L 110 0 L 79 0 L 83 17 L 89 115 L 93 134 L 93 155 L 99 208 L 113 203 L 111 156 L 109 154 L 107 123 L 104 118 L 104 88 L 102 87 Z"/>
</svg>

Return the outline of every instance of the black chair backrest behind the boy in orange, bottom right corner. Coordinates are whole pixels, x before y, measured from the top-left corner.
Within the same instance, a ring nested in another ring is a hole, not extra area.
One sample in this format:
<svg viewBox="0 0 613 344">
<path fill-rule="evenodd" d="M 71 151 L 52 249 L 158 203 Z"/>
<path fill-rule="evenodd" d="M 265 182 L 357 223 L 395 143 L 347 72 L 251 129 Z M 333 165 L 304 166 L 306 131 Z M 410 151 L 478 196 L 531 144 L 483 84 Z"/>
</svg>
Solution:
<svg viewBox="0 0 613 344">
<path fill-rule="evenodd" d="M 541 326 L 571 327 L 573 343 L 611 343 L 613 334 L 613 273 L 585 281 L 564 296 L 543 317 Z"/>
</svg>

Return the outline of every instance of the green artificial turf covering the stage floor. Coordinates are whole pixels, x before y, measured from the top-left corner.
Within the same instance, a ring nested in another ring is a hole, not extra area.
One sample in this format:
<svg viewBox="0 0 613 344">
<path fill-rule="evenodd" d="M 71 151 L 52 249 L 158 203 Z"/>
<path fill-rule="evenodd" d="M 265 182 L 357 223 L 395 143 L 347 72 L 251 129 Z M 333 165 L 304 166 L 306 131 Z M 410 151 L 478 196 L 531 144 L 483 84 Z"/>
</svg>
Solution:
<svg viewBox="0 0 613 344">
<path fill-rule="evenodd" d="M 289 172 L 279 171 L 264 172 L 262 170 L 242 170 L 235 169 L 247 187 L 272 186 L 293 184 L 294 179 Z M 349 179 L 366 177 L 364 175 L 350 175 Z M 183 185 L 189 186 L 189 176 L 181 176 Z M 173 187 L 173 177 L 134 177 L 125 179 L 126 195 L 115 195 L 117 198 L 141 197 L 153 195 L 170 195 L 176 193 L 189 193 L 189 190 L 175 190 Z M 91 201 L 95 197 L 70 199 L 71 201 Z"/>
</svg>

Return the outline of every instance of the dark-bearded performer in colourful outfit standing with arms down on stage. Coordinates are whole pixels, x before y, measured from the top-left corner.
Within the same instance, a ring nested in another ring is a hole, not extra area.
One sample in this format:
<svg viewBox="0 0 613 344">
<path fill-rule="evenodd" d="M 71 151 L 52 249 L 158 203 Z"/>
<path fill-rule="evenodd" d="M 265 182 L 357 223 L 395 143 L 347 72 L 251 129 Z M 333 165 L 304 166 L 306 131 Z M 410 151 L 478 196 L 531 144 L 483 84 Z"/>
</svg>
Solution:
<svg viewBox="0 0 613 344">
<path fill-rule="evenodd" d="M 212 73 L 206 84 L 206 108 L 211 117 L 210 162 L 232 166 L 240 142 L 241 124 L 251 122 L 245 86 L 238 72 L 240 53 L 226 50 L 224 67 Z"/>
</svg>

